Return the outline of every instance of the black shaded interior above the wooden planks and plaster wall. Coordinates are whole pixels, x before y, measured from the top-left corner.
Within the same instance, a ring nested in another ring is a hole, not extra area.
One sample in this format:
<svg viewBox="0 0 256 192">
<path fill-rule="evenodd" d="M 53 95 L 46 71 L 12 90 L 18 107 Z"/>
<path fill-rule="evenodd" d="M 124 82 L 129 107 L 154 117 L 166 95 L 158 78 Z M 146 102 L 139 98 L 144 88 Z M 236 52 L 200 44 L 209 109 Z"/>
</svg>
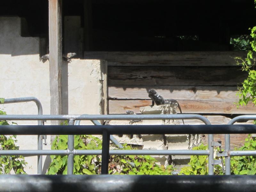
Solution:
<svg viewBox="0 0 256 192">
<path fill-rule="evenodd" d="M 24 36 L 48 38 L 47 0 L 0 6 L 1 16 L 27 20 Z M 232 51 L 230 37 L 256 25 L 254 7 L 253 0 L 63 0 L 62 14 L 81 17 L 84 51 Z"/>
</svg>

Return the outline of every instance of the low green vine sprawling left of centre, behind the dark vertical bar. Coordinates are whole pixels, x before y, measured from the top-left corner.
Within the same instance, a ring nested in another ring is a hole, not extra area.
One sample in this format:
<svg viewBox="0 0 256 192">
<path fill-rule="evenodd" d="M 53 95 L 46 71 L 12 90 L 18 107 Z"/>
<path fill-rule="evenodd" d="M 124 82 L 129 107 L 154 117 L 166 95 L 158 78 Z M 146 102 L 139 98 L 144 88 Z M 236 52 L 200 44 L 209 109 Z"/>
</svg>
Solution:
<svg viewBox="0 0 256 192">
<path fill-rule="evenodd" d="M 52 143 L 52 149 L 67 149 L 68 136 L 56 136 Z M 75 149 L 102 149 L 102 141 L 92 135 L 75 135 Z M 124 144 L 124 149 L 132 149 Z M 68 156 L 51 156 L 52 163 L 47 174 L 67 174 Z M 129 175 L 164 175 L 171 174 L 174 170 L 172 165 L 166 168 L 156 164 L 157 161 L 151 156 L 111 156 L 109 160 L 109 174 L 129 174 Z M 82 155 L 74 157 L 74 174 L 100 174 L 101 156 Z"/>
</svg>

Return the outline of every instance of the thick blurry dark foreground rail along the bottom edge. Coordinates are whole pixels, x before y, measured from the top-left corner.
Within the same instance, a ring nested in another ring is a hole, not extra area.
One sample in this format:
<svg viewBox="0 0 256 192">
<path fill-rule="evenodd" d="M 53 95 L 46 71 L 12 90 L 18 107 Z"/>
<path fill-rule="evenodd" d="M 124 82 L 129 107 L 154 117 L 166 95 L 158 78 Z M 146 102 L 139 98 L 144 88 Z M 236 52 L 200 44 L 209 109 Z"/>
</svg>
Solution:
<svg viewBox="0 0 256 192">
<path fill-rule="evenodd" d="M 0 175 L 1 192 L 255 192 L 255 175 Z"/>
</svg>

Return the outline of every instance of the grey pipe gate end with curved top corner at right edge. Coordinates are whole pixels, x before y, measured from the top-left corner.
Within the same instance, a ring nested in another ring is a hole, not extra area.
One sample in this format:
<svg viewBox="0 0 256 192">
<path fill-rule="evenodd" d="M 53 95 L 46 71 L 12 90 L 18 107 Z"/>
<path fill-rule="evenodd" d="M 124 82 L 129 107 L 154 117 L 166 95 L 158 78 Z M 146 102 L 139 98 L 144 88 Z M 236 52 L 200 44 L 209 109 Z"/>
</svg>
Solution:
<svg viewBox="0 0 256 192">
<path fill-rule="evenodd" d="M 231 119 L 228 124 L 234 124 L 237 121 L 249 121 L 249 120 L 256 120 L 256 115 L 242 115 L 237 116 Z M 254 125 L 255 126 L 255 125 Z M 256 133 L 255 132 L 248 132 L 248 133 Z M 225 164 L 226 164 L 226 175 L 231 174 L 231 164 L 230 164 L 230 156 L 246 156 L 246 152 L 242 151 L 230 151 L 230 134 L 225 134 L 225 151 L 227 156 L 225 156 Z M 248 152 L 247 152 L 248 153 Z M 244 154 L 244 155 L 243 155 Z M 248 153 L 249 154 L 249 153 Z"/>
</svg>

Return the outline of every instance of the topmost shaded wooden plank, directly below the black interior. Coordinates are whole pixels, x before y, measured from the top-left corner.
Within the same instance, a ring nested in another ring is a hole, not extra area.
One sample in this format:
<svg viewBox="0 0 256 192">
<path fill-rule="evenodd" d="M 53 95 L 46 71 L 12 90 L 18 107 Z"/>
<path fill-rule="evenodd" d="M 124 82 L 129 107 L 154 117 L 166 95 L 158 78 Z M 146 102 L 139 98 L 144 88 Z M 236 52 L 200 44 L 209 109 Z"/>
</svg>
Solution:
<svg viewBox="0 0 256 192">
<path fill-rule="evenodd" d="M 246 52 L 84 52 L 84 59 L 107 60 L 108 66 L 232 66 L 237 56 L 245 57 Z"/>
</svg>

